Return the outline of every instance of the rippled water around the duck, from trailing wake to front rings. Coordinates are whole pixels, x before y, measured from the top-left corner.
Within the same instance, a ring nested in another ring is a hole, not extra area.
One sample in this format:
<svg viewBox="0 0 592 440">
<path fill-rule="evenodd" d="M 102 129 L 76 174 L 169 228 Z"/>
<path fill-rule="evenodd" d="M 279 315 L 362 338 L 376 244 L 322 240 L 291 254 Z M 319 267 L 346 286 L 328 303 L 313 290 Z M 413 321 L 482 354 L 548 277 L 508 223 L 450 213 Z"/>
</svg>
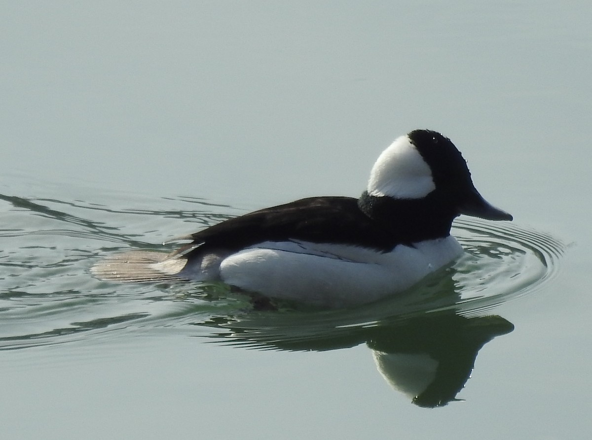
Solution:
<svg viewBox="0 0 592 440">
<path fill-rule="evenodd" d="M 112 203 L 105 203 L 122 206 L 117 209 L 49 197 L 0 199 L 12 206 L 1 213 L 4 224 L 18 225 L 0 230 L 0 349 L 79 340 L 104 334 L 105 328 L 114 330 L 110 335 L 125 335 L 140 328 L 195 331 L 196 325 L 210 328 L 205 335 L 220 329 L 213 336 L 232 344 L 277 348 L 288 341 L 316 341 L 323 346 L 336 338 L 350 341 L 348 335 L 361 329 L 443 311 L 487 315 L 551 280 L 565 251 L 561 241 L 532 228 L 462 218 L 453 235 L 465 254 L 408 292 L 356 309 L 303 313 L 280 305 L 269 313 L 253 310 L 247 297 L 219 284 L 124 286 L 99 282 L 88 272 L 105 249 L 157 247 L 151 238 L 170 236 L 152 231 L 192 232 L 236 215 L 234 208 L 197 198 L 140 200 L 159 207 L 156 211 L 126 208 L 138 206 L 135 198 L 111 197 Z M 101 194 L 89 199 L 100 200 Z"/>
</svg>

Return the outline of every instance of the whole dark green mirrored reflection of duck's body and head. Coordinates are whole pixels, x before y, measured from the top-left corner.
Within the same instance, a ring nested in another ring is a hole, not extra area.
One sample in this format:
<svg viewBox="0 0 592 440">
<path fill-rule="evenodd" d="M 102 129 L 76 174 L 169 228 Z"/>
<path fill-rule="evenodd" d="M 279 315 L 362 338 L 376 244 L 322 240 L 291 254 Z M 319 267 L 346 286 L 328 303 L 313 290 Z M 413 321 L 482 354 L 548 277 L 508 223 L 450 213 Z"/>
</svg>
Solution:
<svg viewBox="0 0 592 440">
<path fill-rule="evenodd" d="M 499 299 L 467 297 L 455 275 L 455 268 L 440 271 L 406 293 L 357 309 L 246 310 L 194 324 L 223 329 L 208 335 L 223 344 L 261 350 L 366 344 L 395 390 L 418 406 L 444 406 L 456 400 L 481 347 L 514 329 L 500 316 L 484 316 Z"/>
</svg>

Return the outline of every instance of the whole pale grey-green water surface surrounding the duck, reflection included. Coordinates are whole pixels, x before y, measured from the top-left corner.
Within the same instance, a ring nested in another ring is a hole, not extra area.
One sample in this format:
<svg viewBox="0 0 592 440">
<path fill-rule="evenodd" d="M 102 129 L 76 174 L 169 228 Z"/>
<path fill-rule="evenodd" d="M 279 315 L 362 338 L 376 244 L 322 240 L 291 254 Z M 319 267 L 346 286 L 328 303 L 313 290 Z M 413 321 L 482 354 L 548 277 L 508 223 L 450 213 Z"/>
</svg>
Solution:
<svg viewBox="0 0 592 440">
<path fill-rule="evenodd" d="M 591 9 L 2 4 L 2 438 L 590 438 Z M 89 274 L 358 196 L 418 127 L 514 222 L 459 218 L 465 255 L 404 295 L 270 312 Z"/>
</svg>

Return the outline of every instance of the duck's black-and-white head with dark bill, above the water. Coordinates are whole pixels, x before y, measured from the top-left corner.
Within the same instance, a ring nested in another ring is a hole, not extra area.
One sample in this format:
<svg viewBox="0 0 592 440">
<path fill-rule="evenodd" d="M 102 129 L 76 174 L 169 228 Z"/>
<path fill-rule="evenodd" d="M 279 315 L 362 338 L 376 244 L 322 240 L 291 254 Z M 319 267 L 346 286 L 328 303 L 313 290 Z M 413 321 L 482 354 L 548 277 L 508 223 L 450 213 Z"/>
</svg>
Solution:
<svg viewBox="0 0 592 440">
<path fill-rule="evenodd" d="M 512 219 L 475 189 L 466 161 L 451 140 L 431 130 L 411 131 L 384 150 L 372 167 L 367 192 L 395 200 L 429 196 L 455 215 Z"/>
</svg>

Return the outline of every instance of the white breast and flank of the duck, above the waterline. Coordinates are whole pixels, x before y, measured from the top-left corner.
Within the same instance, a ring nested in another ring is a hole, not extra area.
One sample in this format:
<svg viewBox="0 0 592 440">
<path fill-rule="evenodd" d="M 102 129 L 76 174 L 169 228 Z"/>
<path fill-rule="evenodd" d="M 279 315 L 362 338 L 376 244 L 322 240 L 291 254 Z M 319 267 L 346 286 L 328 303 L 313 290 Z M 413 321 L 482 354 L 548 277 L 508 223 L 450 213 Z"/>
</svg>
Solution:
<svg viewBox="0 0 592 440">
<path fill-rule="evenodd" d="M 270 297 L 346 307 L 407 289 L 461 253 L 453 237 L 398 245 L 389 253 L 342 244 L 262 242 L 224 258 L 220 278 Z"/>
</svg>

